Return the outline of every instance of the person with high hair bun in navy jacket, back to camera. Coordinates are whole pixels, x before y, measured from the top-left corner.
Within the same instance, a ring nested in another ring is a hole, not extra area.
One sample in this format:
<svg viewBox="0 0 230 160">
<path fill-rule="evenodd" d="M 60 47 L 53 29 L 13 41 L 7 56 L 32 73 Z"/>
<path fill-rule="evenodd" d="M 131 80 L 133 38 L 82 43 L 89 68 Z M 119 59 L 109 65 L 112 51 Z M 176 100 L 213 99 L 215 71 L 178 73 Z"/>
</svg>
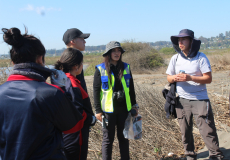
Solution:
<svg viewBox="0 0 230 160">
<path fill-rule="evenodd" d="M 62 132 L 83 126 L 82 114 L 46 79 L 45 48 L 18 28 L 3 28 L 3 40 L 12 46 L 13 71 L 0 85 L 0 157 L 2 159 L 66 159 Z"/>
</svg>

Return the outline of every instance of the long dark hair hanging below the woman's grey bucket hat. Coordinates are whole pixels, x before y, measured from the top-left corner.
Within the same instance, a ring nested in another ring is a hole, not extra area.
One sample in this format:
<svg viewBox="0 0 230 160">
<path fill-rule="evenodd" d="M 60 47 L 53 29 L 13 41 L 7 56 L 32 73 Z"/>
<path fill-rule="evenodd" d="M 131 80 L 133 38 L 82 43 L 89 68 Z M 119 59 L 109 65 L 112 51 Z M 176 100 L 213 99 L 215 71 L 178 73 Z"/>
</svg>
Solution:
<svg viewBox="0 0 230 160">
<path fill-rule="evenodd" d="M 104 62 L 105 62 L 105 68 L 106 71 L 108 73 L 108 77 L 111 80 L 111 70 L 110 70 L 110 65 L 111 65 L 111 53 L 112 53 L 112 49 L 108 52 L 108 54 L 105 56 Z M 121 78 L 123 76 L 123 71 L 124 71 L 124 64 L 122 62 L 122 54 L 120 56 L 120 59 L 117 61 L 117 69 L 119 71 L 118 75 L 119 78 Z M 111 83 L 111 81 L 110 81 Z"/>
</svg>

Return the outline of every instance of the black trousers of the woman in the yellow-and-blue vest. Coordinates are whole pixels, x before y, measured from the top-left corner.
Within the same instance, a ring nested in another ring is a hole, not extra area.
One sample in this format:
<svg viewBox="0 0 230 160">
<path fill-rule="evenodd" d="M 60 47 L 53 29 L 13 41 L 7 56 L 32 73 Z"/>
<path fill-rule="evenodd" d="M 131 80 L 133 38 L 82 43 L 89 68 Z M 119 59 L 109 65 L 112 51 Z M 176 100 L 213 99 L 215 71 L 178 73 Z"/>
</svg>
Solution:
<svg viewBox="0 0 230 160">
<path fill-rule="evenodd" d="M 103 160 L 112 159 L 112 146 L 115 136 L 115 126 L 117 126 L 117 137 L 119 142 L 121 160 L 129 159 L 129 140 L 124 138 L 123 130 L 125 120 L 128 116 L 128 111 L 125 108 L 123 112 L 119 113 L 105 113 L 105 117 L 108 119 L 108 126 L 103 130 L 102 141 L 102 158 Z"/>
</svg>

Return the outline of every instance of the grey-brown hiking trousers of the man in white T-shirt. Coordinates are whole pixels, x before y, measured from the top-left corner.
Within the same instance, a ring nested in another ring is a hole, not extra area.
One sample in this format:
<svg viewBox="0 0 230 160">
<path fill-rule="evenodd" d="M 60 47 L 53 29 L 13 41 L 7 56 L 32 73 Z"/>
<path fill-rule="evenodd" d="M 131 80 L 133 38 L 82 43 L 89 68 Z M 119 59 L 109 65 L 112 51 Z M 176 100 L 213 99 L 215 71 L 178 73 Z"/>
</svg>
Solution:
<svg viewBox="0 0 230 160">
<path fill-rule="evenodd" d="M 222 154 L 219 149 L 213 112 L 209 100 L 199 101 L 180 98 L 176 107 L 176 113 L 186 155 L 196 155 L 194 152 L 195 147 L 192 135 L 193 116 L 205 145 L 209 149 L 209 156 Z"/>
</svg>

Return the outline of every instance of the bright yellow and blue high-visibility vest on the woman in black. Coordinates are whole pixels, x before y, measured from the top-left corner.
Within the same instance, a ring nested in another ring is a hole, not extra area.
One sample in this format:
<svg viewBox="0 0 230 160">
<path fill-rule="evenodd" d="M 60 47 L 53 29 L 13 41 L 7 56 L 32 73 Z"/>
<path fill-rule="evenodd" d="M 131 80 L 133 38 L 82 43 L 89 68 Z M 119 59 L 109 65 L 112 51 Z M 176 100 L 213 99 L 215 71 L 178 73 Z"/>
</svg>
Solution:
<svg viewBox="0 0 230 160">
<path fill-rule="evenodd" d="M 112 79 L 112 86 L 110 83 L 110 79 L 108 78 L 108 74 L 105 68 L 105 64 L 99 64 L 96 66 L 101 74 L 101 93 L 100 93 L 100 100 L 101 100 L 101 108 L 103 112 L 106 113 L 113 113 L 114 108 L 113 108 L 113 89 L 114 89 L 114 84 L 115 84 L 115 78 L 114 74 L 111 73 L 111 79 Z M 127 63 L 124 63 L 124 72 L 123 76 L 121 78 L 121 83 L 124 88 L 125 92 L 125 99 L 126 99 L 126 105 L 127 105 L 127 110 L 130 111 L 132 108 L 131 105 L 131 99 L 129 95 L 129 84 L 130 84 L 130 68 Z"/>
</svg>

